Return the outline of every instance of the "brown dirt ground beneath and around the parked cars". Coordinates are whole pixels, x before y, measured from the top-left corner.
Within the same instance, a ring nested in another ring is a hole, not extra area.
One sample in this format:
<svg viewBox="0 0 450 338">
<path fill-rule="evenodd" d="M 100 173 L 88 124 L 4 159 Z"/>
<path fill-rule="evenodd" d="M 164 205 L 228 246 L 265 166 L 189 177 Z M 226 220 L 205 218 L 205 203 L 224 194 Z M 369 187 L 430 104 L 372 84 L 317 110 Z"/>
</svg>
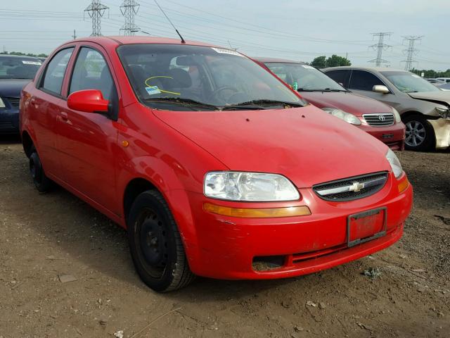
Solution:
<svg viewBox="0 0 450 338">
<path fill-rule="evenodd" d="M 314 275 L 156 294 L 124 230 L 63 189 L 38 194 L 18 140 L 0 139 L 0 338 L 450 337 L 450 153 L 399 158 L 415 196 L 394 246 Z"/>
</svg>

